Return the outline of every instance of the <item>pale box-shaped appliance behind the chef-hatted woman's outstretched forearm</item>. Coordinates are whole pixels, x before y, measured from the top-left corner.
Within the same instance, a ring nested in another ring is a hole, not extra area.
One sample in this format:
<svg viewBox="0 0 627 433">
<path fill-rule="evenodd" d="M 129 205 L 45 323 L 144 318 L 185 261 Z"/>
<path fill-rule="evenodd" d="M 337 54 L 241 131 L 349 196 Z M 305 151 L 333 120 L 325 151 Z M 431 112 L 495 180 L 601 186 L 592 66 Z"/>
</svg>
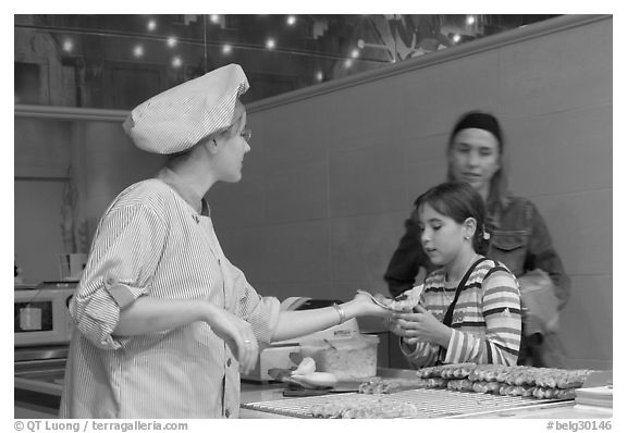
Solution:
<svg viewBox="0 0 627 433">
<path fill-rule="evenodd" d="M 281 310 L 296 311 L 314 308 L 329 307 L 333 304 L 341 304 L 341 300 L 311 299 L 304 297 L 291 297 L 281 302 Z M 253 382 L 269 382 L 273 379 L 268 374 L 269 369 L 290 369 L 295 367 L 291 359 L 291 354 L 300 356 L 303 344 L 322 339 L 351 338 L 359 334 L 357 320 L 349 319 L 346 322 L 329 327 L 323 331 L 315 332 L 294 339 L 276 342 L 259 350 L 259 359 L 255 369 L 248 374 L 242 374 L 243 380 Z M 294 356 L 293 356 L 294 357 Z"/>
</svg>

